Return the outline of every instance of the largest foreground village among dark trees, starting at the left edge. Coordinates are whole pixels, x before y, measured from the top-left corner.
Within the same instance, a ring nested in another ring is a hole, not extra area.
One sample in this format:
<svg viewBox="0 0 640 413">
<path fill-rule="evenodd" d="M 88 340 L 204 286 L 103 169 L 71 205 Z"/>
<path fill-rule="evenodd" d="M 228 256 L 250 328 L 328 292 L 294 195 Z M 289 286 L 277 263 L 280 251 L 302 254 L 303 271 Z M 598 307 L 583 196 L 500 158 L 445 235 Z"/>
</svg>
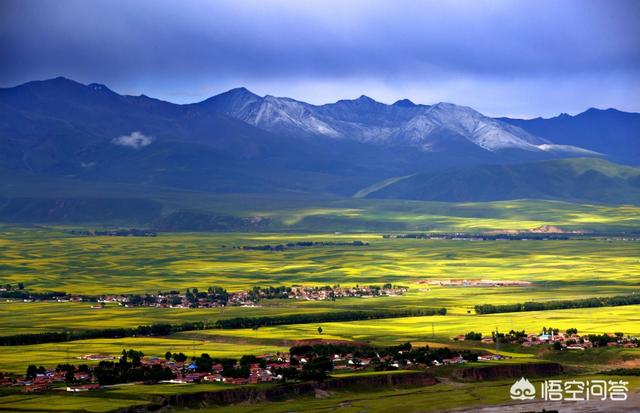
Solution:
<svg viewBox="0 0 640 413">
<path fill-rule="evenodd" d="M 98 365 L 59 364 L 55 368 L 30 365 L 24 376 L 0 373 L 0 386 L 19 387 L 23 392 L 66 390 L 84 392 L 118 386 L 141 384 L 258 384 L 284 381 L 321 381 L 332 371 L 397 370 L 464 364 L 496 359 L 468 350 L 448 348 L 414 348 L 410 343 L 391 347 L 371 347 L 366 343 L 301 340 L 289 352 L 245 355 L 239 360 L 211 358 L 208 354 L 187 357 L 167 352 L 165 357 L 147 357 L 136 350 L 122 355 L 86 354 L 82 362 Z M 501 358 L 500 356 L 498 356 Z"/>
</svg>

